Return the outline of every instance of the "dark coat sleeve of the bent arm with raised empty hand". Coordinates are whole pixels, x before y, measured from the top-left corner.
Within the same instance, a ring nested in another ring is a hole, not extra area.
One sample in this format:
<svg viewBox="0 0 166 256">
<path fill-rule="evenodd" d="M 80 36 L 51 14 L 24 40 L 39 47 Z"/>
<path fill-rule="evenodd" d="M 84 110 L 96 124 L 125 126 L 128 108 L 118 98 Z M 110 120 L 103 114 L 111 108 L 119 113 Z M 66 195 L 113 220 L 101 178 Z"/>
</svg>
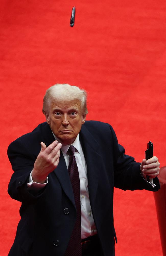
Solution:
<svg viewBox="0 0 166 256">
<path fill-rule="evenodd" d="M 32 149 L 33 152 L 33 149 Z M 8 157 L 14 171 L 8 186 L 9 195 L 20 202 L 33 202 L 42 196 L 42 191 L 32 195 L 27 187 L 29 175 L 33 169 L 37 155 L 26 149 L 21 139 L 12 142 L 8 147 Z"/>
</svg>

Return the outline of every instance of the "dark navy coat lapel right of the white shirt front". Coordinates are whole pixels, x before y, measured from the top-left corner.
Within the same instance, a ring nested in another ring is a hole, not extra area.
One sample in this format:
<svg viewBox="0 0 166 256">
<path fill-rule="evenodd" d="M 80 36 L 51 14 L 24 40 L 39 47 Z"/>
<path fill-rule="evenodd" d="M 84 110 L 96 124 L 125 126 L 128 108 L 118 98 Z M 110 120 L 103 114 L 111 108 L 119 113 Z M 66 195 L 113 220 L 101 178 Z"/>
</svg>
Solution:
<svg viewBox="0 0 166 256">
<path fill-rule="evenodd" d="M 102 157 L 99 151 L 99 144 L 84 125 L 82 125 L 81 128 L 80 141 L 87 164 L 88 190 L 90 204 L 92 207 L 94 206 L 94 201 L 96 198 L 101 172 Z"/>
</svg>

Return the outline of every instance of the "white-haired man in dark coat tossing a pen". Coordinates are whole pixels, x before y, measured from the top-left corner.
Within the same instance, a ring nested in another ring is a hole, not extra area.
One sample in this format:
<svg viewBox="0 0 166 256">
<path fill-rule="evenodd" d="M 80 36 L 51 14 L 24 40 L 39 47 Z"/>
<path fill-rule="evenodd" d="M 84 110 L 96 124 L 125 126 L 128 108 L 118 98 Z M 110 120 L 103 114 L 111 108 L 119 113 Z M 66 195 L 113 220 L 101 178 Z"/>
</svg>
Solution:
<svg viewBox="0 0 166 256">
<path fill-rule="evenodd" d="M 46 122 L 8 148 L 8 192 L 22 202 L 9 255 L 113 256 L 113 188 L 157 191 L 158 159 L 136 163 L 109 124 L 85 121 L 78 87 L 50 87 L 43 113 Z"/>
</svg>

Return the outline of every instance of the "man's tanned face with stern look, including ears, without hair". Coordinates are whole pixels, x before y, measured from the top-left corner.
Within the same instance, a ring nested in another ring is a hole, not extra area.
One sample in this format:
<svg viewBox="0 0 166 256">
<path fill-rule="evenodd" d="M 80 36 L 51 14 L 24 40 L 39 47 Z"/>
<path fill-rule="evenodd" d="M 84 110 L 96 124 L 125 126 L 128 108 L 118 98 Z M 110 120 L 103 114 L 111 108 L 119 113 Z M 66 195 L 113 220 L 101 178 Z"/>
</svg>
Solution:
<svg viewBox="0 0 166 256">
<path fill-rule="evenodd" d="M 52 102 L 49 113 L 45 113 L 45 116 L 55 136 L 66 145 L 75 141 L 86 117 L 82 115 L 81 103 L 77 99 Z"/>
</svg>

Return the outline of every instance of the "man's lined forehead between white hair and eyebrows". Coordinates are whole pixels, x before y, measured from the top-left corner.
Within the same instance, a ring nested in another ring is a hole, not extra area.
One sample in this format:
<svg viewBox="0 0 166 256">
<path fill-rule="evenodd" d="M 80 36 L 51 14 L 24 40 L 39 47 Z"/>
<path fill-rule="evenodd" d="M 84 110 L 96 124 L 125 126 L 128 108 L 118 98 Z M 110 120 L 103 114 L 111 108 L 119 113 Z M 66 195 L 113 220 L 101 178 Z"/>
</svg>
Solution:
<svg viewBox="0 0 166 256">
<path fill-rule="evenodd" d="M 74 100 L 65 100 L 65 101 L 62 101 L 62 100 L 52 100 L 51 101 L 51 104 L 50 104 L 50 108 L 51 109 L 55 109 L 55 108 L 58 108 L 58 109 L 78 109 L 80 110 L 81 109 L 81 102 L 79 99 L 74 99 Z"/>
</svg>

